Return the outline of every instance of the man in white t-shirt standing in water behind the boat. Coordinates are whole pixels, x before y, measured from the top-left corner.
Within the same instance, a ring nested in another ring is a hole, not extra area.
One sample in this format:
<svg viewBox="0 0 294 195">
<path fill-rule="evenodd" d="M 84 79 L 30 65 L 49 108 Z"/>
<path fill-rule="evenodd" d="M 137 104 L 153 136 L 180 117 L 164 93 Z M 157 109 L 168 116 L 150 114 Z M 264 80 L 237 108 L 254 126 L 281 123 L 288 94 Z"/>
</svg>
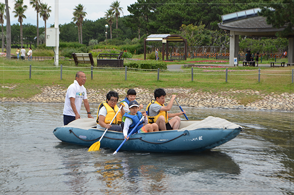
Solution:
<svg viewBox="0 0 294 195">
<path fill-rule="evenodd" d="M 76 80 L 67 88 L 65 95 L 65 103 L 63 108 L 63 123 L 67 125 L 69 122 L 80 117 L 82 102 L 88 113 L 88 118 L 93 118 L 90 112 L 90 105 L 87 99 L 87 91 L 84 87 L 86 83 L 86 75 L 79 71 L 76 74 Z"/>
</svg>

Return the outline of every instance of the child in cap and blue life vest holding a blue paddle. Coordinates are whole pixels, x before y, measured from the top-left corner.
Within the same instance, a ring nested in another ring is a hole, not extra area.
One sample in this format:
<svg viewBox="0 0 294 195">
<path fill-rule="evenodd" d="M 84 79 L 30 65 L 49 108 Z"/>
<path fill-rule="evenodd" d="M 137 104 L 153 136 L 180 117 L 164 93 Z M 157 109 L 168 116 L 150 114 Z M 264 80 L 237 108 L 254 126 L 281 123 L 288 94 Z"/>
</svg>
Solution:
<svg viewBox="0 0 294 195">
<path fill-rule="evenodd" d="M 139 124 L 135 131 L 135 133 L 148 133 L 148 132 L 158 132 L 158 125 L 156 123 L 148 124 L 148 118 L 146 116 L 146 113 L 139 112 L 139 104 L 134 100 L 129 103 L 129 109 L 130 112 L 124 114 L 122 121 L 124 122 L 124 137 L 125 139 L 129 139 L 128 134 L 131 133 L 133 128 L 136 126 L 136 124 L 139 122 L 139 120 L 144 117 L 143 121 L 141 121 L 141 124 Z M 144 125 L 145 124 L 145 125 Z"/>
</svg>

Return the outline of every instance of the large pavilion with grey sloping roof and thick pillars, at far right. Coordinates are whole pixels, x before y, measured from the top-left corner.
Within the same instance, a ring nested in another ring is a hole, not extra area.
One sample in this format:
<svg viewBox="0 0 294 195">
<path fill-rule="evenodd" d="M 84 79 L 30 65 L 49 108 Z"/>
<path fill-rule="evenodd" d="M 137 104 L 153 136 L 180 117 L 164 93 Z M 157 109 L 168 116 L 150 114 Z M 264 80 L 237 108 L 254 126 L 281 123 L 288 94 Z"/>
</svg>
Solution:
<svg viewBox="0 0 294 195">
<path fill-rule="evenodd" d="M 234 12 L 222 16 L 219 28 L 230 31 L 230 66 L 234 66 L 234 57 L 239 58 L 239 35 L 255 37 L 276 37 L 276 32 L 285 27 L 274 28 L 267 24 L 266 18 L 259 16 L 260 8 Z M 272 9 L 272 11 L 275 11 Z M 288 63 L 294 62 L 294 34 L 288 35 Z M 237 62 L 239 59 L 237 60 Z"/>
</svg>

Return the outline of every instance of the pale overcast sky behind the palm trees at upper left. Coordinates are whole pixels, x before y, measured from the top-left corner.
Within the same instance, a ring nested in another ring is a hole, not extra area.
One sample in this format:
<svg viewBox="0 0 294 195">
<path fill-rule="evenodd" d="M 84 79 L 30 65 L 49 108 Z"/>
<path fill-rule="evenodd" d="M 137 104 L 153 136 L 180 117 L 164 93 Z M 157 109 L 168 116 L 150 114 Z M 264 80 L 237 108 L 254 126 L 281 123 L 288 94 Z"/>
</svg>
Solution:
<svg viewBox="0 0 294 195">
<path fill-rule="evenodd" d="M 0 2 L 5 3 L 5 0 L 0 0 Z M 14 13 L 12 13 L 14 8 L 14 0 L 9 0 L 8 4 L 10 7 L 10 23 L 15 24 L 18 23 L 18 18 L 14 17 Z M 30 23 L 32 25 L 36 25 L 36 12 L 34 11 L 34 8 L 29 4 L 29 0 L 23 0 L 24 5 L 26 5 L 28 8 L 25 11 L 24 15 L 26 16 L 26 19 L 23 19 L 23 23 L 27 24 Z M 48 6 L 51 6 L 51 13 L 50 17 L 47 20 L 47 27 L 50 27 L 50 25 L 54 24 L 55 21 L 55 0 L 41 0 L 42 3 L 48 4 Z M 85 8 L 85 12 L 87 12 L 87 15 L 85 19 L 88 20 L 97 20 L 99 18 L 104 17 L 106 10 L 108 10 L 111 6 L 111 4 L 114 2 L 114 0 L 111 1 L 102 1 L 102 0 L 59 0 L 59 24 L 69 23 L 72 21 L 72 13 L 73 9 L 78 6 L 78 4 L 82 4 Z M 134 4 L 137 2 L 136 0 L 118 0 L 120 2 L 120 7 L 123 8 L 123 15 L 129 15 L 130 13 L 127 10 L 127 7 L 131 4 Z M 122 14 L 121 14 L 122 16 Z M 6 23 L 6 20 L 5 20 Z M 6 24 L 5 24 L 6 25 Z M 39 17 L 39 27 L 45 26 L 43 18 Z"/>
</svg>

